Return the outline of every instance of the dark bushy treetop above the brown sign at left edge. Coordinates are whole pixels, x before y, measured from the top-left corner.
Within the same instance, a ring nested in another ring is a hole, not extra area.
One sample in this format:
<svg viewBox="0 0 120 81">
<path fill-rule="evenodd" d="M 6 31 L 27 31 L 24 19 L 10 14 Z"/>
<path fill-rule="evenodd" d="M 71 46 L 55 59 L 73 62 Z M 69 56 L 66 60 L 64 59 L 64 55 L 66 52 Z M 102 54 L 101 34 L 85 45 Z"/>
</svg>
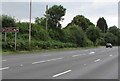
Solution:
<svg viewBox="0 0 120 81">
<path fill-rule="evenodd" d="M 0 16 L 1 17 L 1 21 L 2 22 L 2 27 L 15 27 L 16 24 L 15 24 L 15 19 L 12 18 L 11 16 L 8 16 L 8 15 L 2 15 Z"/>
</svg>

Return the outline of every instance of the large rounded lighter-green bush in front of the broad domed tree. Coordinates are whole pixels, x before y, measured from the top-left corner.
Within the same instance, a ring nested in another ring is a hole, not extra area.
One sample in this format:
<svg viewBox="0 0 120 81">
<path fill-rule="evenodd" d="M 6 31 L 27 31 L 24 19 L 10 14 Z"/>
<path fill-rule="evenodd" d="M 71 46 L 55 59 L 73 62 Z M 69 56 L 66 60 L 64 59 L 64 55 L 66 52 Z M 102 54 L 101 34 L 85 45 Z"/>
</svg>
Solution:
<svg viewBox="0 0 120 81">
<path fill-rule="evenodd" d="M 63 29 L 65 35 L 63 42 L 70 42 L 78 46 L 86 46 L 85 33 L 77 25 L 70 25 Z"/>
</svg>

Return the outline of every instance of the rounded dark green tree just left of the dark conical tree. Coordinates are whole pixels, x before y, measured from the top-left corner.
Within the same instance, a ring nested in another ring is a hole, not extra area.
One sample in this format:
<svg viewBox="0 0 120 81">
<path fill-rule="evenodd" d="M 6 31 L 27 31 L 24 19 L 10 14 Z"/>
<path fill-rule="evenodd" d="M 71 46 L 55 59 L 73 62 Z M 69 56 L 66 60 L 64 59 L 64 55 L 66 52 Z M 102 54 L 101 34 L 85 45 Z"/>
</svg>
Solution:
<svg viewBox="0 0 120 81">
<path fill-rule="evenodd" d="M 100 38 L 100 29 L 95 26 L 90 26 L 86 30 L 86 34 L 88 38 L 93 41 L 94 45 L 96 43 L 96 40 Z"/>
</svg>

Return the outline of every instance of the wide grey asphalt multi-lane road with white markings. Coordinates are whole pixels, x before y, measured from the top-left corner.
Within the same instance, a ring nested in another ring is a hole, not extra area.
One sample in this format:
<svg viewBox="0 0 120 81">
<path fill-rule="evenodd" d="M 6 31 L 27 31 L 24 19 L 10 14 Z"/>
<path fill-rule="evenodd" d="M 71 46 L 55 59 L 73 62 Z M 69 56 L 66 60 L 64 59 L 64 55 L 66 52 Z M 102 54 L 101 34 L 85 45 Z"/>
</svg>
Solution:
<svg viewBox="0 0 120 81">
<path fill-rule="evenodd" d="M 3 79 L 118 79 L 118 47 L 2 57 Z"/>
</svg>

